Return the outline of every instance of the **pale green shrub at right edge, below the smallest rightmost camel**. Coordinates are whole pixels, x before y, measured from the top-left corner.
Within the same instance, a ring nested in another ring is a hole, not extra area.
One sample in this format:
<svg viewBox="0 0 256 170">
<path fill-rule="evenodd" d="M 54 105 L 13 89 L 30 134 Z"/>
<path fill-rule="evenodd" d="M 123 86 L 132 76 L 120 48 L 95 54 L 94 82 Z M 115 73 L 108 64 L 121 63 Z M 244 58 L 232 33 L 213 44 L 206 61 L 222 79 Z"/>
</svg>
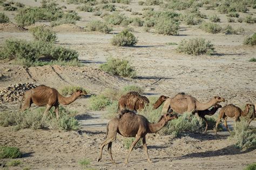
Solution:
<svg viewBox="0 0 256 170">
<path fill-rule="evenodd" d="M 255 129 L 251 130 L 247 127 L 247 121 L 241 120 L 233 126 L 230 139 L 235 142 L 235 146 L 240 149 L 256 148 Z"/>
</svg>

